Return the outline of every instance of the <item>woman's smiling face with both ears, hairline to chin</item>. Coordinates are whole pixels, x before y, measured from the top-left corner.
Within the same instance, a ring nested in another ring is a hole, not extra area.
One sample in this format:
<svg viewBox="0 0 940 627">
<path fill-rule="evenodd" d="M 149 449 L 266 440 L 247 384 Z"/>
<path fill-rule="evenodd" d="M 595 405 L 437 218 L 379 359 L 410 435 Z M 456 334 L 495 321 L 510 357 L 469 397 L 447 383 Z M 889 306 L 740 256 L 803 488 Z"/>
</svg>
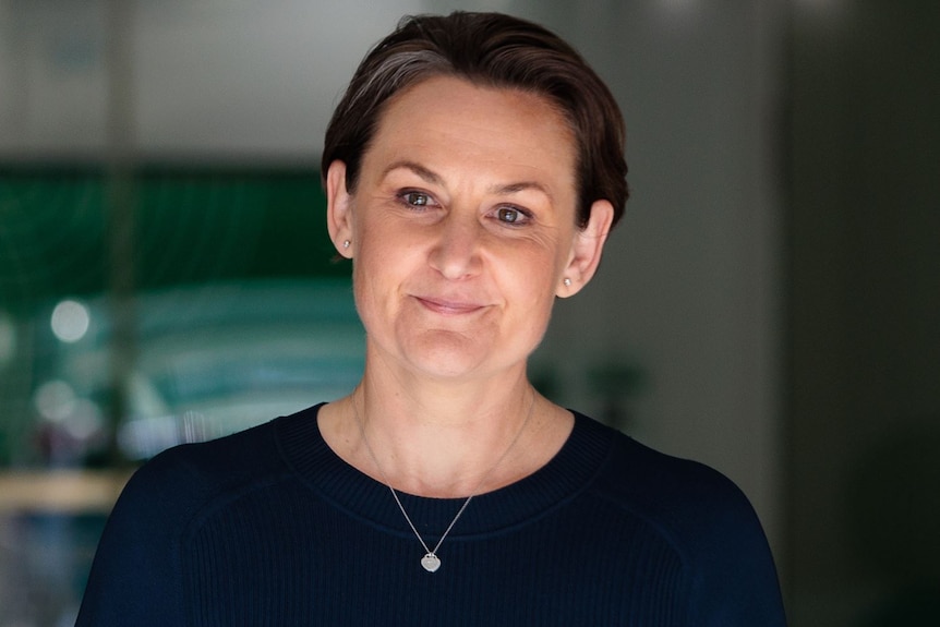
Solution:
<svg viewBox="0 0 940 627">
<path fill-rule="evenodd" d="M 604 207 L 575 227 L 575 166 L 573 133 L 541 97 L 441 76 L 390 100 L 355 193 L 341 162 L 327 176 L 367 359 L 448 379 L 525 369 L 610 228 Z"/>
</svg>

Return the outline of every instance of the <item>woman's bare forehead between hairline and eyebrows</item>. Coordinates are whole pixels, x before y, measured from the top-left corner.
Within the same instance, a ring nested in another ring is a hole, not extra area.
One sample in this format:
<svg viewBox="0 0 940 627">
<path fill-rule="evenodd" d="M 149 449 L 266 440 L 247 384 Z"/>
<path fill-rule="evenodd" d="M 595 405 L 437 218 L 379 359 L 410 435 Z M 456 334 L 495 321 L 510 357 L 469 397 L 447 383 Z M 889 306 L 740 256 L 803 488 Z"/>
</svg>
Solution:
<svg viewBox="0 0 940 627">
<path fill-rule="evenodd" d="M 466 165 L 529 167 L 565 184 L 575 179 L 576 142 L 567 118 L 544 96 L 434 76 L 387 103 L 364 157 L 459 157 Z"/>
</svg>

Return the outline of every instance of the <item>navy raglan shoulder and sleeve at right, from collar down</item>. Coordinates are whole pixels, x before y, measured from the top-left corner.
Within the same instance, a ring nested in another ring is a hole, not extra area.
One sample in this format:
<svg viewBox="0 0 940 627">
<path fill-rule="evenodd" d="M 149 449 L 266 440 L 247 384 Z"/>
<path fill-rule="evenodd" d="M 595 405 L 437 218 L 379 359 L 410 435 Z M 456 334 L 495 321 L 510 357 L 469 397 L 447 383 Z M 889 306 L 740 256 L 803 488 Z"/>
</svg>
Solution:
<svg viewBox="0 0 940 627">
<path fill-rule="evenodd" d="M 607 430 L 610 443 L 592 495 L 672 545 L 688 577 L 691 624 L 783 625 L 770 546 L 742 490 L 709 466 L 592 429 Z"/>
</svg>

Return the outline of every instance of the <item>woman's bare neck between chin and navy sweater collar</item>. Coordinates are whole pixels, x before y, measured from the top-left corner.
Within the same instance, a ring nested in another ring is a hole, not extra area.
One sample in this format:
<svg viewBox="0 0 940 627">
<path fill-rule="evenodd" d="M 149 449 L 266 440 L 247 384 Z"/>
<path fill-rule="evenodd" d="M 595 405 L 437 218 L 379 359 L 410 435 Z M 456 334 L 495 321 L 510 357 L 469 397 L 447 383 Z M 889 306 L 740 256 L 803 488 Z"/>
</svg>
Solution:
<svg viewBox="0 0 940 627">
<path fill-rule="evenodd" d="M 366 360 L 355 390 L 317 421 L 340 458 L 401 492 L 466 497 L 508 485 L 546 463 L 574 426 L 531 387 L 525 364 L 462 381 L 375 365 Z"/>
</svg>

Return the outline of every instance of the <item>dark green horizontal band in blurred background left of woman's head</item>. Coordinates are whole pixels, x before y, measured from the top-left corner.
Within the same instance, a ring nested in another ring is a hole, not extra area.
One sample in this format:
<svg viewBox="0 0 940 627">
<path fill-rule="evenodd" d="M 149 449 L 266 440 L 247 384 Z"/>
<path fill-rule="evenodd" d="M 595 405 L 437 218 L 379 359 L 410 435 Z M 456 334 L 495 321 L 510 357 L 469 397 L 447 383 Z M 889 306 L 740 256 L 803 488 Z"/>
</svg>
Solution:
<svg viewBox="0 0 940 627">
<path fill-rule="evenodd" d="M 349 276 L 316 171 L 147 169 L 132 190 L 130 258 L 113 260 L 100 171 L 0 170 L 0 306 L 105 292 L 115 263 L 131 265 L 138 290 Z"/>
</svg>

